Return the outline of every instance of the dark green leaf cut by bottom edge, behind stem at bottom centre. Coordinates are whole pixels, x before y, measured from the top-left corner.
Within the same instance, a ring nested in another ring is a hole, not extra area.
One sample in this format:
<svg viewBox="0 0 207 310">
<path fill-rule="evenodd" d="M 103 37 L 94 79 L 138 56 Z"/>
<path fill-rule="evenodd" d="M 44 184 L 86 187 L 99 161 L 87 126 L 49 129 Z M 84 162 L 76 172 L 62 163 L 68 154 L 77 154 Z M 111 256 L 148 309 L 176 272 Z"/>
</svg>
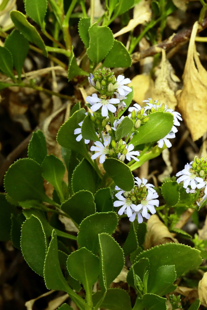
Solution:
<svg viewBox="0 0 207 310">
<path fill-rule="evenodd" d="M 92 295 L 93 304 L 96 305 L 101 299 L 102 292 L 98 291 Z M 130 297 L 125 290 L 119 288 L 111 288 L 106 292 L 106 296 L 102 301 L 100 308 L 109 310 L 131 310 Z"/>
</svg>

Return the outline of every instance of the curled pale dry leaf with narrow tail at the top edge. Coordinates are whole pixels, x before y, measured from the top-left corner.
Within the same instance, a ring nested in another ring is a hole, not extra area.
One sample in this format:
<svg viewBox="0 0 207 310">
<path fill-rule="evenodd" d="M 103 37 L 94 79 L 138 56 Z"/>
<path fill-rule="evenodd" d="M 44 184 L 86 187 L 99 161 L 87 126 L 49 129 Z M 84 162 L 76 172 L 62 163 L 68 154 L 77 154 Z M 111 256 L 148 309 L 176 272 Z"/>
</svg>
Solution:
<svg viewBox="0 0 207 310">
<path fill-rule="evenodd" d="M 129 20 L 129 23 L 126 27 L 119 30 L 114 34 L 114 38 L 124 34 L 128 31 L 133 30 L 137 25 L 143 24 L 144 22 L 148 22 L 151 19 L 151 9 L 150 9 L 150 1 L 141 0 L 134 7 L 133 19 Z"/>
</svg>

